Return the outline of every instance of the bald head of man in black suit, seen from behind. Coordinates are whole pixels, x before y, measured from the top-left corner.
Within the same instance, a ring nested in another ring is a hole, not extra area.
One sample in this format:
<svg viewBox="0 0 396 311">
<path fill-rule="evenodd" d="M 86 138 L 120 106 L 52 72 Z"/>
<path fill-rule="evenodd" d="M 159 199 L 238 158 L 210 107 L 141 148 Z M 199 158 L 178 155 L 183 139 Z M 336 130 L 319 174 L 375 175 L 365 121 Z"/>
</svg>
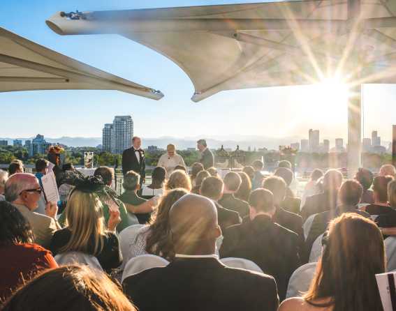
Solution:
<svg viewBox="0 0 396 311">
<path fill-rule="evenodd" d="M 214 203 L 200 195 L 184 195 L 169 212 L 170 230 L 175 251 L 184 254 L 197 253 L 212 248 L 221 234 Z"/>
</svg>

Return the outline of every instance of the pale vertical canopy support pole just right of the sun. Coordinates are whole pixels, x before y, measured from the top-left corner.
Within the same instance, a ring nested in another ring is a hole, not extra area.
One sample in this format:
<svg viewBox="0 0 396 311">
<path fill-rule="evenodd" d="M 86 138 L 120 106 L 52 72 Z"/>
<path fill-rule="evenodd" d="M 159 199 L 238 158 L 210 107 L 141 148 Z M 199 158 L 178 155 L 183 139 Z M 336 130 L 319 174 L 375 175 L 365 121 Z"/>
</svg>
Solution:
<svg viewBox="0 0 396 311">
<path fill-rule="evenodd" d="M 348 103 L 348 177 L 353 178 L 362 158 L 362 84 L 353 86 Z"/>
</svg>

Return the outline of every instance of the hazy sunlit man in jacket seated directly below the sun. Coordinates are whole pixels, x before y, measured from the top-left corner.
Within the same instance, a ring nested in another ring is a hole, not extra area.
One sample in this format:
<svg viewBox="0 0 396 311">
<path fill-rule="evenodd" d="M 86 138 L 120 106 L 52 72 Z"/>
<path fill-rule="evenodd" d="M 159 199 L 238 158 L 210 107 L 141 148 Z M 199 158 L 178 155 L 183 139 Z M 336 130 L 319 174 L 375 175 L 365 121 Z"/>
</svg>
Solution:
<svg viewBox="0 0 396 311">
<path fill-rule="evenodd" d="M 342 174 L 337 169 L 329 169 L 323 176 L 323 193 L 307 197 L 307 202 L 302 206 L 302 220 L 307 220 L 310 215 L 329 211 L 337 206 L 337 193 L 342 183 Z"/>
</svg>

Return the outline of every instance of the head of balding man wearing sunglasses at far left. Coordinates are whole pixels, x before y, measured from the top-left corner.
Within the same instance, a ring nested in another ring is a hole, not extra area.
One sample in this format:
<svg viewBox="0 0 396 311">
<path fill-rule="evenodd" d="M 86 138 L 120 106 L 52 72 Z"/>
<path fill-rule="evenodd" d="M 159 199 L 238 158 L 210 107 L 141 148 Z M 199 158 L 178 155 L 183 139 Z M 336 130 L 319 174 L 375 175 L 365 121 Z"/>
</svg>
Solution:
<svg viewBox="0 0 396 311">
<path fill-rule="evenodd" d="M 39 188 L 40 184 L 34 174 L 17 173 L 10 176 L 4 187 L 4 195 L 8 202 L 14 202 L 24 190 Z"/>
</svg>

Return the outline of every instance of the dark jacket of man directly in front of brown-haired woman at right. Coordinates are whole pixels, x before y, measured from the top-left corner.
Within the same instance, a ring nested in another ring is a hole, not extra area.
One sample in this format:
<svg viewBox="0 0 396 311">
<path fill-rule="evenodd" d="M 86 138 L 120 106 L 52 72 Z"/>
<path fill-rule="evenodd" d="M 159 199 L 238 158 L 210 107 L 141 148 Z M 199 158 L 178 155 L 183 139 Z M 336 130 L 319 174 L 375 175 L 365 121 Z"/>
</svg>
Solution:
<svg viewBox="0 0 396 311">
<path fill-rule="evenodd" d="M 365 211 L 359 211 L 355 206 L 339 206 L 337 208 L 331 209 L 330 211 L 318 213 L 318 215 L 316 215 L 312 221 L 311 229 L 309 230 L 307 236 L 307 241 L 305 241 L 307 251 L 309 253 L 311 252 L 312 245 L 314 244 L 316 238 L 325 233 L 325 231 L 328 229 L 329 222 L 343 213 L 357 213 L 365 218 L 370 217 L 369 213 L 366 213 Z"/>
</svg>

